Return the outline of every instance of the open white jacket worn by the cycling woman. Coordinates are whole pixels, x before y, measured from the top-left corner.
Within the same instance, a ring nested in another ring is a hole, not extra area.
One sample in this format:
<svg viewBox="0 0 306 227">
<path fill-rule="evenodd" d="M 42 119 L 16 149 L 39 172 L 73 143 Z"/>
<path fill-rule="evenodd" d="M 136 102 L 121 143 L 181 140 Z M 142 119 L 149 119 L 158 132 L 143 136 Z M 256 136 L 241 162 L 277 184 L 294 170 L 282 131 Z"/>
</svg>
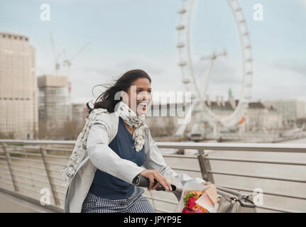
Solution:
<svg viewBox="0 0 306 227">
<path fill-rule="evenodd" d="M 142 167 L 130 160 L 119 157 L 111 148 L 109 143 L 114 139 L 118 131 L 119 117 L 115 113 L 102 113 L 97 116 L 87 137 L 87 154 L 80 162 L 72 177 L 65 194 L 65 213 L 80 213 L 82 204 L 89 192 L 97 168 L 110 175 L 118 177 L 132 184 L 133 178 L 143 170 L 158 170 L 160 175 L 175 177 L 182 185 L 186 182 L 205 182 L 204 179 L 191 178 L 185 174 L 177 174 L 168 167 L 158 150 L 157 145 L 151 137 L 148 126 L 145 126 L 146 160 Z M 180 200 L 181 194 L 173 192 Z"/>
</svg>

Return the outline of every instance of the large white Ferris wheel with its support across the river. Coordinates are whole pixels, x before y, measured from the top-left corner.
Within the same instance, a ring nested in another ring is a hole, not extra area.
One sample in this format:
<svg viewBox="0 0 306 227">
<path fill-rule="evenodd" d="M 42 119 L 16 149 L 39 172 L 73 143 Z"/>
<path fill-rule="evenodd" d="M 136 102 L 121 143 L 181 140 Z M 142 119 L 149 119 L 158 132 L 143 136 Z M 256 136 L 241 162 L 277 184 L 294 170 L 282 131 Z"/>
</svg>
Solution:
<svg viewBox="0 0 306 227">
<path fill-rule="evenodd" d="M 195 69 L 195 61 L 193 61 L 192 55 L 192 39 L 191 39 L 191 26 L 192 26 L 192 13 L 195 11 L 195 2 L 197 0 L 183 0 L 182 8 L 177 12 L 179 14 L 179 24 L 176 27 L 177 30 L 177 45 L 179 56 L 179 67 L 182 74 L 182 84 L 185 90 L 192 92 L 192 105 L 200 106 L 203 113 L 209 114 L 209 121 L 217 128 L 221 126 L 235 126 L 241 118 L 244 117 L 246 109 L 248 108 L 248 102 L 251 99 L 252 77 L 253 77 L 253 58 L 251 51 L 251 40 L 246 25 L 246 19 L 241 9 L 238 0 L 224 0 L 229 6 L 231 13 L 234 17 L 234 23 L 236 23 L 236 31 L 239 35 L 240 52 L 241 52 L 241 92 L 239 95 L 239 103 L 234 111 L 228 116 L 220 116 L 214 114 L 209 109 L 209 106 L 205 103 L 205 97 L 207 97 L 207 89 L 209 87 L 209 79 L 214 70 L 214 62 L 218 57 L 226 56 L 226 50 L 222 52 L 212 52 L 207 56 L 200 57 L 200 62 L 204 65 L 204 70 Z M 199 0 L 198 0 L 199 1 Z M 203 1 L 203 0 L 200 0 Z M 199 79 L 202 78 L 202 83 Z"/>
</svg>

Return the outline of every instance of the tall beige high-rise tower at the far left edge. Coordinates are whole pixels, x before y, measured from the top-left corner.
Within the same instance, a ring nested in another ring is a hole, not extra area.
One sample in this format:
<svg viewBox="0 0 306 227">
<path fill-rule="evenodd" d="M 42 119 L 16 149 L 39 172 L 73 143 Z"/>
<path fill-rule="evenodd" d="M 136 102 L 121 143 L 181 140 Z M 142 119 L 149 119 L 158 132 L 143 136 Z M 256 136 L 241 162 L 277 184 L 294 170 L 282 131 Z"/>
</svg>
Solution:
<svg viewBox="0 0 306 227">
<path fill-rule="evenodd" d="M 35 49 L 12 33 L 0 33 L 0 132 L 18 139 L 38 132 Z"/>
</svg>

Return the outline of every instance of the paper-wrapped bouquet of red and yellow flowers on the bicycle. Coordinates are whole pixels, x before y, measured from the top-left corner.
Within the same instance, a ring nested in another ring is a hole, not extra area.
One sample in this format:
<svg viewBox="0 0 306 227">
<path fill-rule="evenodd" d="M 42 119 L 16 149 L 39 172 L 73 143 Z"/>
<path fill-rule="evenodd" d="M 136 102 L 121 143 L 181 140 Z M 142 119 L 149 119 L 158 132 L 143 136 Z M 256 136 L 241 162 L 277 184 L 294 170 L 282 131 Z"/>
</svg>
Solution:
<svg viewBox="0 0 306 227">
<path fill-rule="evenodd" d="M 218 206 L 217 189 L 214 184 L 204 186 L 203 184 L 187 182 L 176 212 L 216 213 Z"/>
</svg>

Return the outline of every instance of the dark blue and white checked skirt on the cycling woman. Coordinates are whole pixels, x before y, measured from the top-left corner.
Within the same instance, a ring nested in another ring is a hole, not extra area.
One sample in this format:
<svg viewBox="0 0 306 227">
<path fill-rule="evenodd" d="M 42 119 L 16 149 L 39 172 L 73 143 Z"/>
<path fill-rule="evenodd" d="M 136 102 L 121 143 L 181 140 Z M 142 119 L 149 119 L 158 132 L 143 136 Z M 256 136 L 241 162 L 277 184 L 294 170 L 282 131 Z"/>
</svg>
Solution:
<svg viewBox="0 0 306 227">
<path fill-rule="evenodd" d="M 150 201 L 142 196 L 145 190 L 135 187 L 127 199 L 105 199 L 88 192 L 82 213 L 155 213 Z"/>
</svg>

